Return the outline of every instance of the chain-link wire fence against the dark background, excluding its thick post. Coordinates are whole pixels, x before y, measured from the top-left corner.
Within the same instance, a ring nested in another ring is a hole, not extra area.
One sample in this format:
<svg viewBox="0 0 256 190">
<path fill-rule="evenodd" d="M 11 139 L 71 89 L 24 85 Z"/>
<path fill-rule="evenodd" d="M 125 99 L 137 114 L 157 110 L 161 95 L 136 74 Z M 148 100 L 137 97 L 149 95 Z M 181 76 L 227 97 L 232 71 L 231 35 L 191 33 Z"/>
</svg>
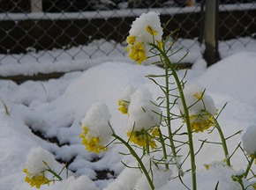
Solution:
<svg viewBox="0 0 256 190">
<path fill-rule="evenodd" d="M 215 51 L 232 49 L 237 42 L 250 46 L 256 38 L 256 1 L 216 2 Z M 159 11 L 163 23 L 172 18 L 165 32 L 179 28 L 179 46 L 203 51 L 205 4 L 206 0 L 0 0 L 0 64 L 27 62 L 27 56 L 30 62 L 42 62 L 45 56 L 57 62 L 113 52 L 124 55 L 132 21 L 149 10 Z M 88 51 L 85 46 L 94 48 Z"/>
</svg>

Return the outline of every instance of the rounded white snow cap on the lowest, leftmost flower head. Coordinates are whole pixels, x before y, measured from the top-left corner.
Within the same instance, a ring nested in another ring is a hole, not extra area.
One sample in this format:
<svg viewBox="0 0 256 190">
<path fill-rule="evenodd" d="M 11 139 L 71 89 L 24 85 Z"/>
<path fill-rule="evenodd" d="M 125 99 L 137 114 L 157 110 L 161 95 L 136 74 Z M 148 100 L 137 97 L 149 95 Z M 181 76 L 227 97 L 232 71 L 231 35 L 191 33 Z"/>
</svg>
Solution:
<svg viewBox="0 0 256 190">
<path fill-rule="evenodd" d="M 27 172 L 31 176 L 36 176 L 49 169 L 42 161 L 46 162 L 52 170 L 55 169 L 57 164 L 54 156 L 48 150 L 44 150 L 41 147 L 31 149 L 26 157 Z"/>
</svg>

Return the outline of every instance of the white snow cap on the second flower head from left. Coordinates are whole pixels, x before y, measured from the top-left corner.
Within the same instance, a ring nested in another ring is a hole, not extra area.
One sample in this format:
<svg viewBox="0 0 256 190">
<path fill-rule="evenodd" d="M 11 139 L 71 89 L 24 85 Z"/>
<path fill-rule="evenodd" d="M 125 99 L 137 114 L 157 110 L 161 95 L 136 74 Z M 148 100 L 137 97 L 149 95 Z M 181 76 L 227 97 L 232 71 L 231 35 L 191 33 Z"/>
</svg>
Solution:
<svg viewBox="0 0 256 190">
<path fill-rule="evenodd" d="M 94 103 L 87 112 L 86 117 L 81 121 L 82 127 L 88 128 L 87 136 L 99 137 L 100 145 L 106 145 L 112 135 L 109 121 L 111 114 L 108 106 L 102 102 Z"/>
</svg>

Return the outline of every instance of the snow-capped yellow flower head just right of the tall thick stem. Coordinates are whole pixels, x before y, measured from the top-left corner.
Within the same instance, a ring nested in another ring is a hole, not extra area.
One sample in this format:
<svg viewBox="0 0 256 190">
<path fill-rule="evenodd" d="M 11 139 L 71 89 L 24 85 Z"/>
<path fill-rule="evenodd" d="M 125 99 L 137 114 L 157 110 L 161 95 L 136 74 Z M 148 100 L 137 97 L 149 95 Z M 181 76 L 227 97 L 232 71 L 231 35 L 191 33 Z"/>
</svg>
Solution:
<svg viewBox="0 0 256 190">
<path fill-rule="evenodd" d="M 205 89 L 198 84 L 186 84 L 184 87 L 184 99 L 188 107 L 192 130 L 198 133 L 213 126 L 213 118 L 205 111 L 215 115 L 217 110 L 215 101 L 206 94 Z M 181 113 L 184 113 L 181 99 L 177 100 L 177 104 Z"/>
</svg>

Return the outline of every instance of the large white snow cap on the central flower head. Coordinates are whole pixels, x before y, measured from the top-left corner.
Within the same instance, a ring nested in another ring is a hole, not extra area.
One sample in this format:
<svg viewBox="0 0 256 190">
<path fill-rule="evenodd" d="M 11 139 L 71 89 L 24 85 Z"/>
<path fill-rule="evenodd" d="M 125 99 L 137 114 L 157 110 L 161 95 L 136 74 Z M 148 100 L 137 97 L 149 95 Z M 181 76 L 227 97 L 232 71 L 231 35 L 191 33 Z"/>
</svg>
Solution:
<svg viewBox="0 0 256 190">
<path fill-rule="evenodd" d="M 131 103 L 128 108 L 128 131 L 140 131 L 142 128 L 148 129 L 159 126 L 161 109 L 152 103 L 152 94 L 146 88 L 139 88 L 131 96 Z M 159 113 L 159 114 L 157 114 Z"/>
</svg>

